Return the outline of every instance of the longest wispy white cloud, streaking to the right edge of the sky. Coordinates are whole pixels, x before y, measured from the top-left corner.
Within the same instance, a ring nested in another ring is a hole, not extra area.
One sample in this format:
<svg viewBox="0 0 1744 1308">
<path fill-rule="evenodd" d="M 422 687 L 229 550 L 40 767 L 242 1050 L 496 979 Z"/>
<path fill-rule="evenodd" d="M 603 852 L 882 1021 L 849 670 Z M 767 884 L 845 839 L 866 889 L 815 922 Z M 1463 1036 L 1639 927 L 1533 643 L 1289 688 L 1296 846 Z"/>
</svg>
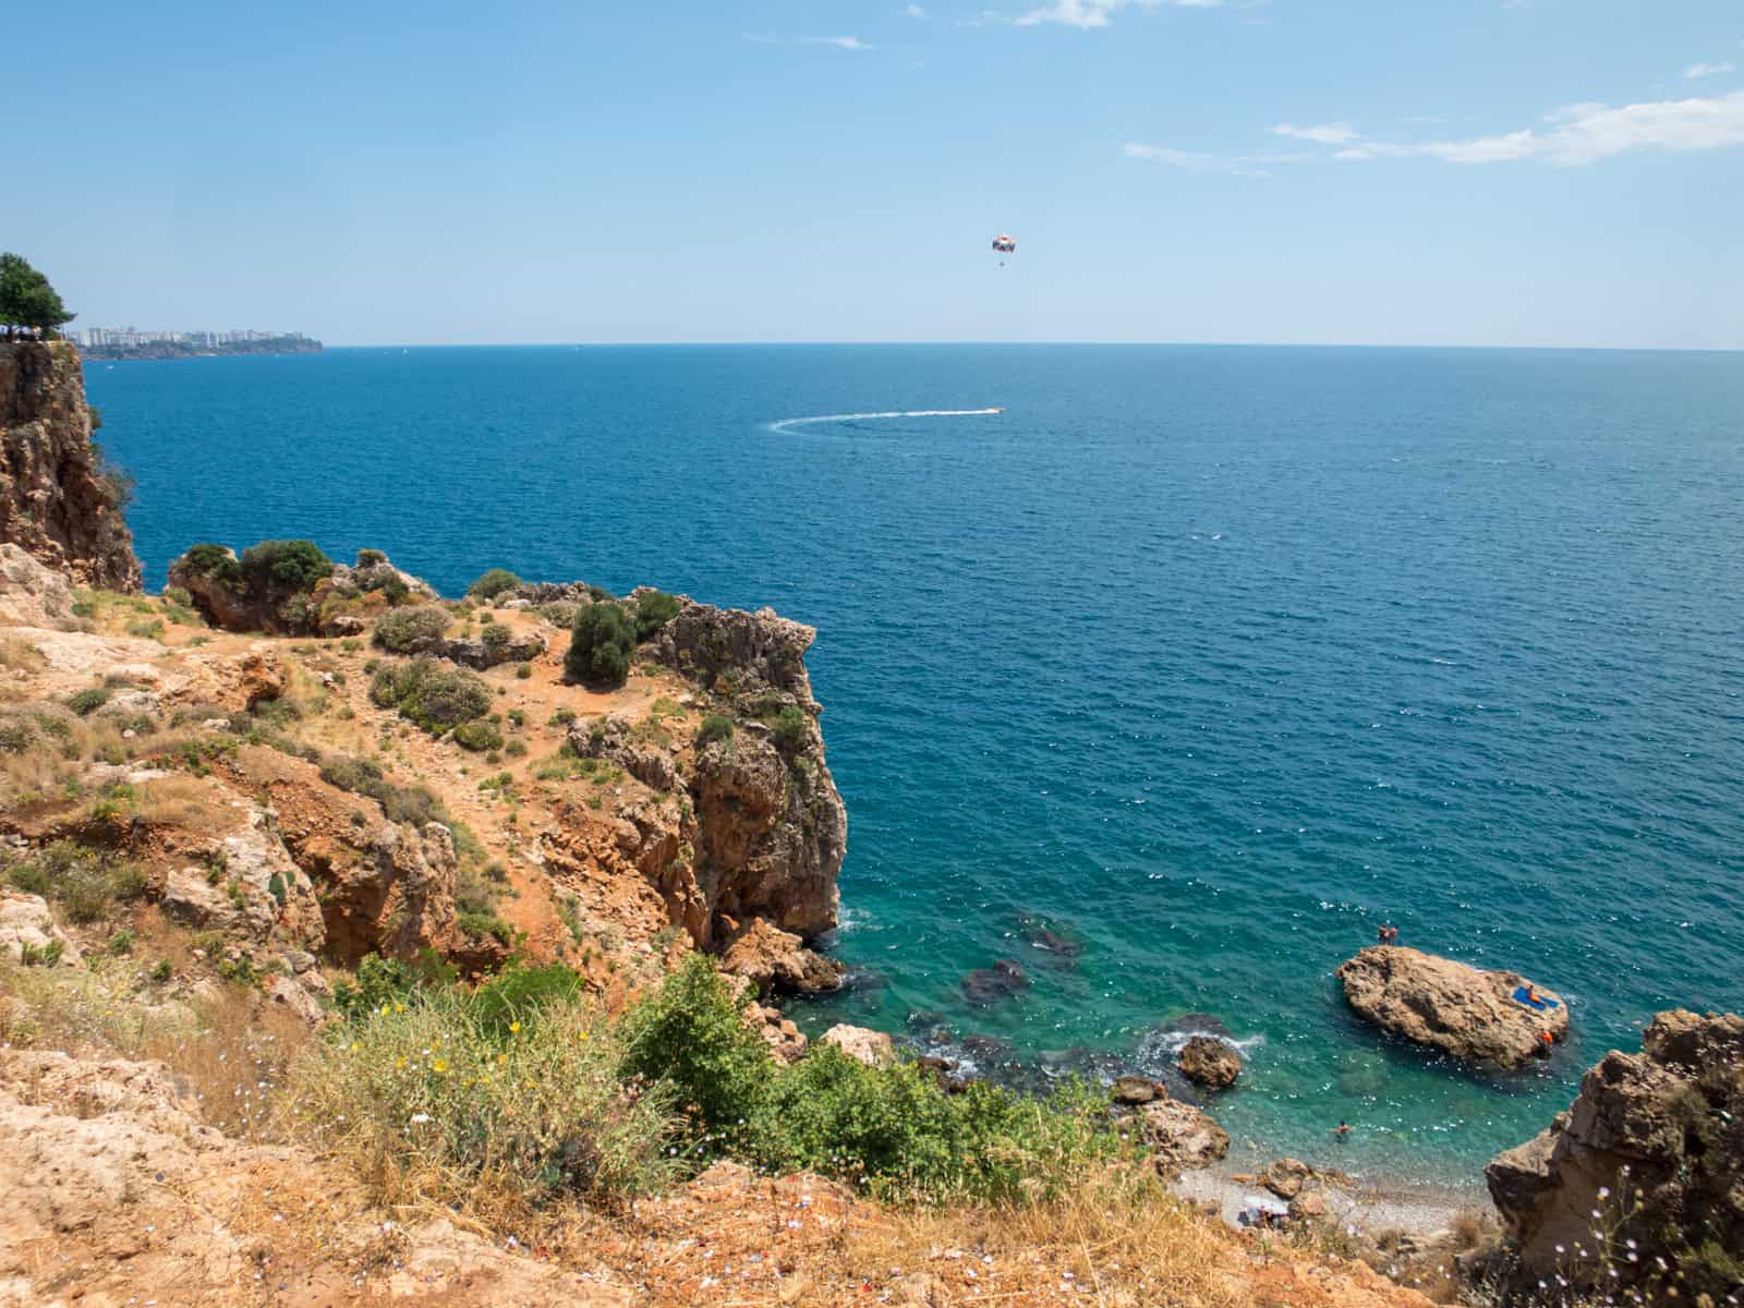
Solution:
<svg viewBox="0 0 1744 1308">
<path fill-rule="evenodd" d="M 1542 160 L 1561 167 L 1596 164 L 1638 150 L 1686 153 L 1744 145 L 1744 91 L 1727 96 L 1659 99 L 1639 105 L 1568 105 L 1543 115 L 1542 126 L 1493 136 L 1442 141 L 1378 141 L 1345 122 L 1296 127 L 1280 122 L 1277 136 L 1338 146 L 1331 153 L 1212 155 L 1160 145 L 1127 145 L 1132 159 L 1149 159 L 1198 173 L 1264 176 L 1270 164 L 1327 159 L 1441 159 L 1449 164 L 1510 164 Z"/>
</svg>

